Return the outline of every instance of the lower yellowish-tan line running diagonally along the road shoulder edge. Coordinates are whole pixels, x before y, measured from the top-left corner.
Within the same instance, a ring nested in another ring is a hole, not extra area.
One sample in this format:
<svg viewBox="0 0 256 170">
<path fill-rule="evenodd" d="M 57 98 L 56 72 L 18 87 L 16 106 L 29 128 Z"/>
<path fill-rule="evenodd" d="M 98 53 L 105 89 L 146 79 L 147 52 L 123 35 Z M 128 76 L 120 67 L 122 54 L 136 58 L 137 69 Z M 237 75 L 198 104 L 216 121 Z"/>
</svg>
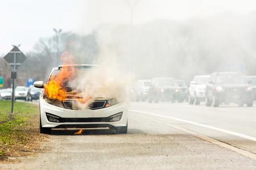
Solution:
<svg viewBox="0 0 256 170">
<path fill-rule="evenodd" d="M 205 135 L 203 135 L 203 134 L 196 133 L 195 131 L 191 131 L 191 130 L 188 130 L 188 129 L 185 129 L 185 128 L 181 128 L 180 126 L 176 126 L 176 125 L 173 125 L 173 124 L 168 124 L 168 123 L 166 123 L 166 122 L 158 121 L 158 120 L 155 120 L 155 119 L 153 119 L 153 118 L 148 118 L 148 117 L 144 117 L 144 116 L 141 116 L 141 115 L 140 115 L 140 117 L 146 118 L 147 120 L 159 122 L 159 123 L 164 124 L 164 125 L 167 125 L 167 126 L 171 126 L 172 128 L 175 128 L 175 129 L 180 130 L 180 131 L 183 131 L 183 132 L 185 132 L 185 133 L 194 135 L 195 137 L 200 138 L 200 139 L 203 139 L 204 141 L 213 143 L 214 145 L 217 145 L 217 146 L 220 146 L 220 147 L 228 148 L 229 150 L 232 150 L 232 151 L 234 151 L 234 152 L 237 152 L 238 154 L 241 154 L 241 155 L 243 155 L 243 156 L 246 156 L 247 158 L 256 160 L 256 155 L 255 155 L 254 153 L 252 153 L 252 152 L 249 152 L 249 151 L 246 151 L 246 150 L 242 150 L 241 148 L 234 147 L 234 146 L 229 145 L 229 144 L 227 144 L 227 143 L 224 143 L 224 142 L 218 141 L 218 140 L 216 140 L 216 139 L 207 137 L 207 136 L 205 136 Z"/>
</svg>

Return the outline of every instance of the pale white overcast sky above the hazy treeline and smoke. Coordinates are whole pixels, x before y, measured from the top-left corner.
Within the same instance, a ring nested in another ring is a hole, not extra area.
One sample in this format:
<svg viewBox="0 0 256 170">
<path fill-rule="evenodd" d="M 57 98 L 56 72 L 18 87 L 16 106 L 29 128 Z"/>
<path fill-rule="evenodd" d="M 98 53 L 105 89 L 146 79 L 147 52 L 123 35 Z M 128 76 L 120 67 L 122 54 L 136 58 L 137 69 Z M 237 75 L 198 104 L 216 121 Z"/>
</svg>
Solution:
<svg viewBox="0 0 256 170">
<path fill-rule="evenodd" d="M 52 28 L 89 33 L 101 23 L 131 22 L 154 19 L 184 20 L 205 18 L 221 12 L 244 15 L 256 11 L 255 0 L 3 0 L 0 2 L 0 54 L 13 44 L 31 50 L 40 37 L 52 36 Z"/>
</svg>

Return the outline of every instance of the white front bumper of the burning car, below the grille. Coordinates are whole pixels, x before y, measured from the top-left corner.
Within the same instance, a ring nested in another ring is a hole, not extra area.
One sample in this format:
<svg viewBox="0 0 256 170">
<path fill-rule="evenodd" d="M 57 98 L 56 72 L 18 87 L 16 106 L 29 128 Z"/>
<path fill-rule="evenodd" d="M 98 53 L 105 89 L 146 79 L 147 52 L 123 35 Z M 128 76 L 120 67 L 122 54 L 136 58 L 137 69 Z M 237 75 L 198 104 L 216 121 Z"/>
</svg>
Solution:
<svg viewBox="0 0 256 170">
<path fill-rule="evenodd" d="M 43 128 L 112 128 L 127 125 L 127 104 L 119 103 L 102 109 L 72 110 L 56 107 L 40 99 L 40 118 Z M 122 112 L 121 120 L 109 122 L 108 117 Z M 65 122 L 50 122 L 46 113 L 63 118 Z M 98 120 L 98 121 L 97 121 Z M 105 121 L 104 121 L 105 120 Z"/>
</svg>

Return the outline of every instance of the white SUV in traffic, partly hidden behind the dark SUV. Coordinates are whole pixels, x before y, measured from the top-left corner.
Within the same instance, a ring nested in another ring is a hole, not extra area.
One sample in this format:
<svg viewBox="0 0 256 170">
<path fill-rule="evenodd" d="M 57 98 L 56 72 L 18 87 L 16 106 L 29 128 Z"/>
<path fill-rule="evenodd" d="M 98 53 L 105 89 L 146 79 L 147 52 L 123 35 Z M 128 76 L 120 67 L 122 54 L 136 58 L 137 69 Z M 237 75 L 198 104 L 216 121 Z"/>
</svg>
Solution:
<svg viewBox="0 0 256 170">
<path fill-rule="evenodd" d="M 197 75 L 189 84 L 189 104 L 199 105 L 200 101 L 205 101 L 205 88 L 210 80 L 210 75 Z"/>
</svg>

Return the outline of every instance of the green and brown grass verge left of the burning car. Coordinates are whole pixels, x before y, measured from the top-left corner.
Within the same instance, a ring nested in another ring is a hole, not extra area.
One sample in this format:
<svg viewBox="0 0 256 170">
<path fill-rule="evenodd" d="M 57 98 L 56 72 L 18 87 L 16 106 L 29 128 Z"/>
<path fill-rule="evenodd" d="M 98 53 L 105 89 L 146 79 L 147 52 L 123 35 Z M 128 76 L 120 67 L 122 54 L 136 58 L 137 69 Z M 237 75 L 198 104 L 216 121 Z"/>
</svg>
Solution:
<svg viewBox="0 0 256 170">
<path fill-rule="evenodd" d="M 13 121 L 8 119 L 10 108 L 10 101 L 0 101 L 0 160 L 30 154 L 44 138 L 38 129 L 38 106 L 16 102 Z"/>
</svg>

